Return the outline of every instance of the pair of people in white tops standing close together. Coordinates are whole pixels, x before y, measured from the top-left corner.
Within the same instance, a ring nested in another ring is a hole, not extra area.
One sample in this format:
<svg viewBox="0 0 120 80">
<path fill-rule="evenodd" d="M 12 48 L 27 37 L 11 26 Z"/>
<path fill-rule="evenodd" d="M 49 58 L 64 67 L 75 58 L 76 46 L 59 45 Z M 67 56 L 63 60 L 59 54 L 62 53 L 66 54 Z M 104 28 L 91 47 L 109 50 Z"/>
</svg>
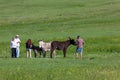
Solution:
<svg viewBox="0 0 120 80">
<path fill-rule="evenodd" d="M 20 39 L 19 35 L 15 35 L 15 37 L 12 37 L 12 40 L 10 42 L 10 48 L 11 48 L 11 57 L 12 58 L 19 58 L 20 55 Z"/>
</svg>

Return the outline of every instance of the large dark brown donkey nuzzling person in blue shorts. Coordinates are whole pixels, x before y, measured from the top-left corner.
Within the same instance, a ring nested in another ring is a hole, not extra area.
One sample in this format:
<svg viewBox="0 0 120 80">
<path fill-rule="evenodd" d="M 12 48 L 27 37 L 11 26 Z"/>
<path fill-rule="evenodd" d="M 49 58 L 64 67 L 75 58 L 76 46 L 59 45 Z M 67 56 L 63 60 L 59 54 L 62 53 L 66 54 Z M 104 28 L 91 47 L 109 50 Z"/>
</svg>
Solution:
<svg viewBox="0 0 120 80">
<path fill-rule="evenodd" d="M 74 39 L 71 39 L 69 38 L 69 40 L 67 41 L 53 41 L 51 43 L 51 50 L 50 50 L 50 57 L 52 58 L 52 55 L 53 55 L 53 51 L 55 49 L 57 50 L 63 50 L 63 54 L 64 54 L 64 57 L 66 57 L 66 51 L 67 51 L 67 48 L 70 46 L 70 45 L 75 45 L 76 42 L 74 41 Z"/>
</svg>

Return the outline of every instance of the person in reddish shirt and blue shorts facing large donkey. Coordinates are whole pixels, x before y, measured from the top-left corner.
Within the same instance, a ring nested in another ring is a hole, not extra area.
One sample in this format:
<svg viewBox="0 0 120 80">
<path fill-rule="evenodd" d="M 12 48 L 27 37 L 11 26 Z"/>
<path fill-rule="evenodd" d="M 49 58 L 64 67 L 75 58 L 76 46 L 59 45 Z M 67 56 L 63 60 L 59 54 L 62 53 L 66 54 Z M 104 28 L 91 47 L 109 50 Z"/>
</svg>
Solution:
<svg viewBox="0 0 120 80">
<path fill-rule="evenodd" d="M 80 38 L 80 36 L 77 36 L 76 42 L 77 42 L 76 58 L 78 58 L 78 53 L 80 53 L 80 59 L 82 60 L 84 40 Z"/>
</svg>

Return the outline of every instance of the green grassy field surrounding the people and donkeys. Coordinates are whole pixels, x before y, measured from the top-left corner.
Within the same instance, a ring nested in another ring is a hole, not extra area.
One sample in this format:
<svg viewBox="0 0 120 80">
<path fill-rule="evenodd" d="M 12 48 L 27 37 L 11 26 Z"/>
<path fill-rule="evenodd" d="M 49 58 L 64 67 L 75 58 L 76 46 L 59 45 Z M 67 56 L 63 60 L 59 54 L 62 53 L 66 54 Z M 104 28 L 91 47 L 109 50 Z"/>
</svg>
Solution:
<svg viewBox="0 0 120 80">
<path fill-rule="evenodd" d="M 119 80 L 119 0 L 0 0 L 0 80 Z M 21 54 L 12 59 L 10 40 L 20 35 Z M 85 40 L 83 60 L 75 46 L 67 57 L 26 58 L 25 42 Z"/>
</svg>

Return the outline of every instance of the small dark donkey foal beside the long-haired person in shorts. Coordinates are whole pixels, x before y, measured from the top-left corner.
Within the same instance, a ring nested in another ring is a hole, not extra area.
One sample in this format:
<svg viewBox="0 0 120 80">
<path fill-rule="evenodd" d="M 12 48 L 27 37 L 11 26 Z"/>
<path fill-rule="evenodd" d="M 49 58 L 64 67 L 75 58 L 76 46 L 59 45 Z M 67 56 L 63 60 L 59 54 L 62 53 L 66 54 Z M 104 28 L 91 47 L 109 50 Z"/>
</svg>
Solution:
<svg viewBox="0 0 120 80">
<path fill-rule="evenodd" d="M 39 48 L 39 46 L 35 46 L 34 44 L 32 44 L 31 49 L 33 49 L 35 58 L 38 52 L 40 53 L 40 56 L 43 55 L 43 58 L 46 57 L 46 51 L 44 51 L 42 48 Z"/>
</svg>

